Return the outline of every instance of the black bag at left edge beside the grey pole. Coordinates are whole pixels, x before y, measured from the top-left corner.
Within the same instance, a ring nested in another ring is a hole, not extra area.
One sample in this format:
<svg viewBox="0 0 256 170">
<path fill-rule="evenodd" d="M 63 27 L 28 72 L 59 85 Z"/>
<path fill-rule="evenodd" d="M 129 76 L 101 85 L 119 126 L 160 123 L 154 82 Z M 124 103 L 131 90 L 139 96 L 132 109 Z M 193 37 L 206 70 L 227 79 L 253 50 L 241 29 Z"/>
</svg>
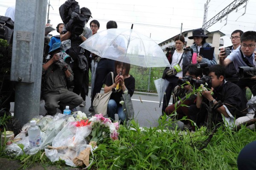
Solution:
<svg viewBox="0 0 256 170">
<path fill-rule="evenodd" d="M 0 16 L 0 38 L 12 44 L 14 21 L 5 16 Z"/>
</svg>

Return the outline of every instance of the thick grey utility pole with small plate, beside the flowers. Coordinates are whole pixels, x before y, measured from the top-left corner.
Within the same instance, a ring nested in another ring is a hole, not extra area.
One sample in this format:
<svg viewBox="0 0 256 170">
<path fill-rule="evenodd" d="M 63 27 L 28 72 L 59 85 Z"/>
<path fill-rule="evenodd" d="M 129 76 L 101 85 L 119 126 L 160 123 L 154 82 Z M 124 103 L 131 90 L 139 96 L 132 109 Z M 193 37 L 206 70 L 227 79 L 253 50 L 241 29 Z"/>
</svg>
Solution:
<svg viewBox="0 0 256 170">
<path fill-rule="evenodd" d="M 16 0 L 11 80 L 20 125 L 39 115 L 47 0 Z"/>
</svg>

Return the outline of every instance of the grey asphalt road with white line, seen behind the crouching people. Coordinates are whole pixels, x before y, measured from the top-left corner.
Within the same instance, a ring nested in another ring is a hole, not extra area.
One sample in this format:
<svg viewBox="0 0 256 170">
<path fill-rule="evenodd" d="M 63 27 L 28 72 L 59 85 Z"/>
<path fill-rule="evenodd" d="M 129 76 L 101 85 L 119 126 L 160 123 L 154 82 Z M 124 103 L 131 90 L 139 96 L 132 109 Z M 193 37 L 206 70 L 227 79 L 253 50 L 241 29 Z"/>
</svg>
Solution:
<svg viewBox="0 0 256 170">
<path fill-rule="evenodd" d="M 101 91 L 103 93 L 103 91 Z M 132 103 L 134 106 L 134 119 L 140 125 L 140 127 L 156 127 L 158 125 L 158 118 L 160 117 L 161 107 L 159 108 L 159 98 L 157 94 L 134 92 L 134 95 L 131 97 Z M 86 97 L 86 105 L 84 107 L 76 107 L 79 111 L 82 111 L 87 114 L 87 116 L 93 116 L 95 113 L 88 111 L 90 108 L 90 89 L 89 94 Z M 171 101 L 172 102 L 172 101 Z M 14 103 L 11 103 L 10 112 L 14 110 Z M 40 115 L 45 115 L 47 111 L 44 108 L 44 100 L 40 103 Z M 59 110 L 57 112 L 60 112 Z M 116 114 L 116 120 L 118 116 Z M 179 123 L 179 126 L 183 126 Z"/>
</svg>

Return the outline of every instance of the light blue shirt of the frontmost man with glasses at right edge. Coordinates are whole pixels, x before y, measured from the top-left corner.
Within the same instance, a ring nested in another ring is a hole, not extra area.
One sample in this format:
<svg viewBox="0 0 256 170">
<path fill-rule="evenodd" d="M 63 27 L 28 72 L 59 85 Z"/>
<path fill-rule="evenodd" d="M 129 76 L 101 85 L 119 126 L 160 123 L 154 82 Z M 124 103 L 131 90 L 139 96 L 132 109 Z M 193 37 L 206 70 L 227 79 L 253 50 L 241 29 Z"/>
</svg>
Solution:
<svg viewBox="0 0 256 170">
<path fill-rule="evenodd" d="M 253 64 L 254 53 L 253 53 L 252 56 L 246 57 L 244 55 L 244 57 L 246 59 L 248 59 L 248 61 L 250 62 L 251 65 L 254 65 Z M 230 59 L 231 61 L 234 62 L 234 65 L 236 67 L 236 71 L 239 71 L 238 67 L 248 67 L 248 65 L 243 61 L 243 58 L 242 58 L 242 55 L 241 55 L 241 52 L 240 52 L 239 48 L 236 48 L 236 50 L 232 51 L 232 53 L 230 53 L 230 55 L 227 56 L 227 59 Z"/>
</svg>

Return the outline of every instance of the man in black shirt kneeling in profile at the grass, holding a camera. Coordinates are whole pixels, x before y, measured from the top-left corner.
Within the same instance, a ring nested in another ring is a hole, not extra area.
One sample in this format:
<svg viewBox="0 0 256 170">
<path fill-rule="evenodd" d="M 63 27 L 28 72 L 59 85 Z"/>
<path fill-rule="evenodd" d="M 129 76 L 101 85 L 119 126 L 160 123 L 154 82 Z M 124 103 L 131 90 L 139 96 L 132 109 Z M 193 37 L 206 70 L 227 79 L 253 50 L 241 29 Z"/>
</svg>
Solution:
<svg viewBox="0 0 256 170">
<path fill-rule="evenodd" d="M 245 116 L 245 113 L 242 113 L 241 111 L 246 110 L 245 112 L 247 112 L 247 100 L 241 88 L 232 82 L 225 81 L 225 68 L 223 66 L 213 65 L 210 67 L 209 77 L 212 79 L 212 89 L 210 91 L 202 91 L 201 95 L 197 95 L 196 107 L 191 106 L 189 108 L 189 113 L 197 115 L 199 112 L 197 116 L 197 124 L 200 125 L 203 122 L 198 122 L 198 120 L 205 121 L 207 115 L 206 109 L 201 105 L 203 99 L 207 99 L 209 104 L 217 104 L 220 100 L 222 103 L 227 103 L 229 105 L 222 105 L 217 108 L 215 111 L 216 115 L 213 116 L 212 121 L 215 124 L 227 121 L 226 125 L 233 126 L 235 118 Z M 236 107 L 238 110 L 230 105 Z"/>
</svg>

